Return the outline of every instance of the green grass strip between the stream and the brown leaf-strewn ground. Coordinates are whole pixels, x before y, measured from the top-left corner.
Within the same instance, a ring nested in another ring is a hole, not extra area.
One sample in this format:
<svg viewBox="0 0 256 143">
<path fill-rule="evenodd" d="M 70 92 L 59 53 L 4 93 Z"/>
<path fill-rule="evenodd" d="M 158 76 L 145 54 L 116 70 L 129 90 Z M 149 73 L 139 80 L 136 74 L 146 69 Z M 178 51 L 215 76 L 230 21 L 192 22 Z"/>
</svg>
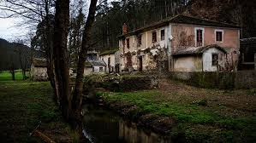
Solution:
<svg viewBox="0 0 256 143">
<path fill-rule="evenodd" d="M 180 95 L 176 92 L 171 94 Z M 219 138 L 219 141 L 223 142 L 236 139 L 247 142 L 256 139 L 256 117 L 253 113 L 252 116 L 241 114 L 238 117 L 229 115 L 229 113 L 223 115 L 216 107 L 168 100 L 168 96 L 163 95 L 159 90 L 128 93 L 104 92 L 98 95 L 113 103 L 136 105 L 140 112 L 172 117 L 175 119 L 176 127 L 171 134 L 182 132 L 190 141 L 211 140 L 215 142 L 214 140 Z M 183 100 L 186 100 L 185 98 Z"/>
</svg>

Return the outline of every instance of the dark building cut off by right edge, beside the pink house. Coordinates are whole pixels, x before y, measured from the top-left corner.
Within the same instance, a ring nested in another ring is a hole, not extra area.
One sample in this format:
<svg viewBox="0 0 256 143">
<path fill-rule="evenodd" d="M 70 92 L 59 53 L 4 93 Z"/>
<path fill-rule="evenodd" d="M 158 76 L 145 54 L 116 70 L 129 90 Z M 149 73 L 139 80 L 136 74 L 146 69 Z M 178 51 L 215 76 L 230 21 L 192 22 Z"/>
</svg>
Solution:
<svg viewBox="0 0 256 143">
<path fill-rule="evenodd" d="M 256 37 L 241 39 L 239 70 L 256 70 Z"/>
</svg>

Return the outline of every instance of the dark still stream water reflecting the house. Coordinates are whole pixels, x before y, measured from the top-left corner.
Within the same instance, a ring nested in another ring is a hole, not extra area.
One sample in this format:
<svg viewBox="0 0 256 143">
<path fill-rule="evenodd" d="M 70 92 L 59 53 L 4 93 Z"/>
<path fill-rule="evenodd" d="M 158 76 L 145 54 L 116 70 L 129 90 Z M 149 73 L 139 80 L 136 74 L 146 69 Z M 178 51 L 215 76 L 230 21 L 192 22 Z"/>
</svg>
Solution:
<svg viewBox="0 0 256 143">
<path fill-rule="evenodd" d="M 96 106 L 83 107 L 83 134 L 92 143 L 170 143 L 170 139 L 140 129 L 114 112 Z"/>
</svg>

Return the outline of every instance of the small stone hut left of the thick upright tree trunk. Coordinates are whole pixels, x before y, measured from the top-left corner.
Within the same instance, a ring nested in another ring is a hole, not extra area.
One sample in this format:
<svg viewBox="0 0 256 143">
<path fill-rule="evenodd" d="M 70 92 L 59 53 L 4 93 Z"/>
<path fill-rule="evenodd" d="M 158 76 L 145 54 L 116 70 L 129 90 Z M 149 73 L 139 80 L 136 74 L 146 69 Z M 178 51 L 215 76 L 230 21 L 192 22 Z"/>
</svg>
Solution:
<svg viewBox="0 0 256 143">
<path fill-rule="evenodd" d="M 47 75 L 47 61 L 45 59 L 34 58 L 31 63 L 31 78 L 34 81 L 46 81 Z"/>
</svg>

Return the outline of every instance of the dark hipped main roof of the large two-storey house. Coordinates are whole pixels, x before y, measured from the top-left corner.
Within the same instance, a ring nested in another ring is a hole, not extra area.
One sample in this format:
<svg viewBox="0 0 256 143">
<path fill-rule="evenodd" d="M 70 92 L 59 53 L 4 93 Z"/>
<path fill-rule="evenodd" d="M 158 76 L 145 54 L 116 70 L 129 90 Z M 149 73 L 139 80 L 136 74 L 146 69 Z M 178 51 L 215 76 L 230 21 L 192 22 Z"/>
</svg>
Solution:
<svg viewBox="0 0 256 143">
<path fill-rule="evenodd" d="M 178 14 L 175 17 L 171 17 L 171 18 L 169 17 L 167 19 L 153 23 L 152 25 L 144 26 L 135 31 L 128 32 L 127 34 L 124 34 L 120 37 L 128 37 L 128 36 L 135 35 L 140 32 L 143 32 L 143 31 L 149 31 L 149 30 L 161 27 L 161 26 L 168 26 L 170 23 L 172 23 L 172 24 L 188 24 L 188 25 L 196 25 L 196 26 L 229 27 L 229 28 L 236 28 L 236 29 L 241 28 L 240 26 L 235 26 L 235 25 L 231 25 L 228 23 L 221 23 L 221 22 L 217 22 L 217 21 L 213 21 L 213 20 L 205 20 L 205 19 L 200 19 L 200 18 L 196 18 L 196 17 L 184 15 L 184 14 Z"/>
</svg>

